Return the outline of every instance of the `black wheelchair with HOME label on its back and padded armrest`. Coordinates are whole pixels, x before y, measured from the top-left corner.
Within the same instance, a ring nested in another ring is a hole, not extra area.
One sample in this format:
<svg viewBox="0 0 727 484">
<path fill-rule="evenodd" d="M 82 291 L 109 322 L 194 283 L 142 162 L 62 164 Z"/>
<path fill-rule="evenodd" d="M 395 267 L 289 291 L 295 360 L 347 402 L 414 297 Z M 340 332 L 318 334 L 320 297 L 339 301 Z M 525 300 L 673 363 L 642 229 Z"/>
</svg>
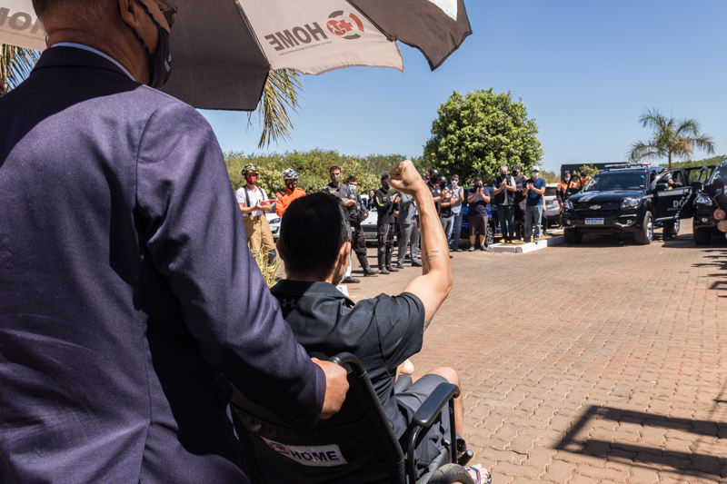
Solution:
<svg viewBox="0 0 727 484">
<path fill-rule="evenodd" d="M 230 401 L 234 428 L 254 484 L 475 484 L 464 467 L 472 451 L 457 459 L 453 399 L 460 390 L 456 385 L 441 383 L 415 412 L 404 458 L 361 362 L 351 353 L 339 353 L 330 361 L 347 365 L 348 395 L 338 413 L 320 420 L 306 435 L 234 389 Z M 398 390 L 411 381 L 400 377 Z M 452 434 L 442 453 L 416 479 L 413 449 L 445 406 Z"/>
</svg>

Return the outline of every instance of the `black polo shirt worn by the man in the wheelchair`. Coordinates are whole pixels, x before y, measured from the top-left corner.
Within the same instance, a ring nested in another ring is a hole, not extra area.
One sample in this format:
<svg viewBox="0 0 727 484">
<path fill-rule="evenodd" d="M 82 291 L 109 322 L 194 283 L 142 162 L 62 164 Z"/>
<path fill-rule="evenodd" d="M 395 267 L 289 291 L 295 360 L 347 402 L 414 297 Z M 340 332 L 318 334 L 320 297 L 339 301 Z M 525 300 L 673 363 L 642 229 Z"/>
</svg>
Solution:
<svg viewBox="0 0 727 484">
<path fill-rule="evenodd" d="M 271 289 L 295 339 L 311 357 L 328 360 L 342 351 L 364 364 L 397 437 L 407 414 L 393 398 L 396 367 L 422 350 L 424 306 L 409 292 L 380 294 L 354 304 L 328 282 L 281 281 Z"/>
</svg>

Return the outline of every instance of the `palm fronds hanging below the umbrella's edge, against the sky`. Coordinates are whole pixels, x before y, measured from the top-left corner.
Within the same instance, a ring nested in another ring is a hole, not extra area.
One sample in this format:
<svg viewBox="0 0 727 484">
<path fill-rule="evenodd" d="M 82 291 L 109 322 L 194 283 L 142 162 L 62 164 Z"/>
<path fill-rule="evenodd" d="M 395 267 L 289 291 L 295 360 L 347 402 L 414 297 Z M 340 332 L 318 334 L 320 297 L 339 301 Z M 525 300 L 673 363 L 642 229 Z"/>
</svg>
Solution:
<svg viewBox="0 0 727 484">
<path fill-rule="evenodd" d="M 278 139 L 291 139 L 293 122 L 289 109 L 297 113 L 299 95 L 303 90 L 300 74 L 292 69 L 270 71 L 263 91 L 263 99 L 257 106 L 262 133 L 257 147 L 262 148 Z M 249 118 L 248 118 L 249 121 Z"/>
</svg>

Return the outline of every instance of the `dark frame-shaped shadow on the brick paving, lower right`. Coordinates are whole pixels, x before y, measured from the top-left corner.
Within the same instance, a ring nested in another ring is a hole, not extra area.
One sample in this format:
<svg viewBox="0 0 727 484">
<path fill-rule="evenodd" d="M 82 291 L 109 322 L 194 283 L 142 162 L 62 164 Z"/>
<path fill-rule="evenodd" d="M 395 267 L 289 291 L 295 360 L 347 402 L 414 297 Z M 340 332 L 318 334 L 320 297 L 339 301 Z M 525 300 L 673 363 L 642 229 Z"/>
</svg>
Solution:
<svg viewBox="0 0 727 484">
<path fill-rule="evenodd" d="M 714 403 L 724 403 L 724 400 L 716 399 Z M 720 477 L 725 477 L 721 476 L 721 473 L 724 472 L 722 469 L 727 468 L 727 459 L 719 457 L 718 455 L 669 450 L 655 445 L 643 446 L 632 441 L 619 442 L 618 440 L 611 441 L 591 438 L 586 438 L 583 441 L 577 440 L 574 436 L 582 433 L 584 430 L 588 431 L 588 427 L 586 426 L 594 418 L 617 422 L 627 421 L 641 424 L 645 428 L 681 430 L 710 438 L 727 438 L 727 425 L 721 422 L 677 419 L 654 413 L 592 405 L 583 410 L 582 417 L 566 432 L 555 449 L 591 455 L 603 459 L 632 460 L 637 466 L 656 465 L 683 476 L 700 477 L 703 479 L 716 478 L 715 481 Z M 627 435 L 624 435 L 624 440 L 628 438 Z"/>
</svg>

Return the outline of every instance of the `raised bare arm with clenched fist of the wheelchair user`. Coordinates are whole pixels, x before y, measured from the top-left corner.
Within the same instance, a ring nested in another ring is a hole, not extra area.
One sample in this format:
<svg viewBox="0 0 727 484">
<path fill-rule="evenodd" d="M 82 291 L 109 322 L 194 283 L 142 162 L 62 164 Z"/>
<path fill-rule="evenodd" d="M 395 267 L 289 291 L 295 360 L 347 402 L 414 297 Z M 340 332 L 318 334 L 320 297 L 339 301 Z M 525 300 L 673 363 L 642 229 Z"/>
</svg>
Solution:
<svg viewBox="0 0 727 484">
<path fill-rule="evenodd" d="M 419 210 L 423 275 L 409 282 L 403 291 L 411 292 L 423 302 L 424 321 L 428 323 L 449 295 L 454 283 L 447 238 L 442 222 L 439 221 L 432 193 L 423 183 L 413 163 L 406 160 L 389 173 L 392 175 L 392 186 L 399 192 L 413 195 Z"/>
</svg>

